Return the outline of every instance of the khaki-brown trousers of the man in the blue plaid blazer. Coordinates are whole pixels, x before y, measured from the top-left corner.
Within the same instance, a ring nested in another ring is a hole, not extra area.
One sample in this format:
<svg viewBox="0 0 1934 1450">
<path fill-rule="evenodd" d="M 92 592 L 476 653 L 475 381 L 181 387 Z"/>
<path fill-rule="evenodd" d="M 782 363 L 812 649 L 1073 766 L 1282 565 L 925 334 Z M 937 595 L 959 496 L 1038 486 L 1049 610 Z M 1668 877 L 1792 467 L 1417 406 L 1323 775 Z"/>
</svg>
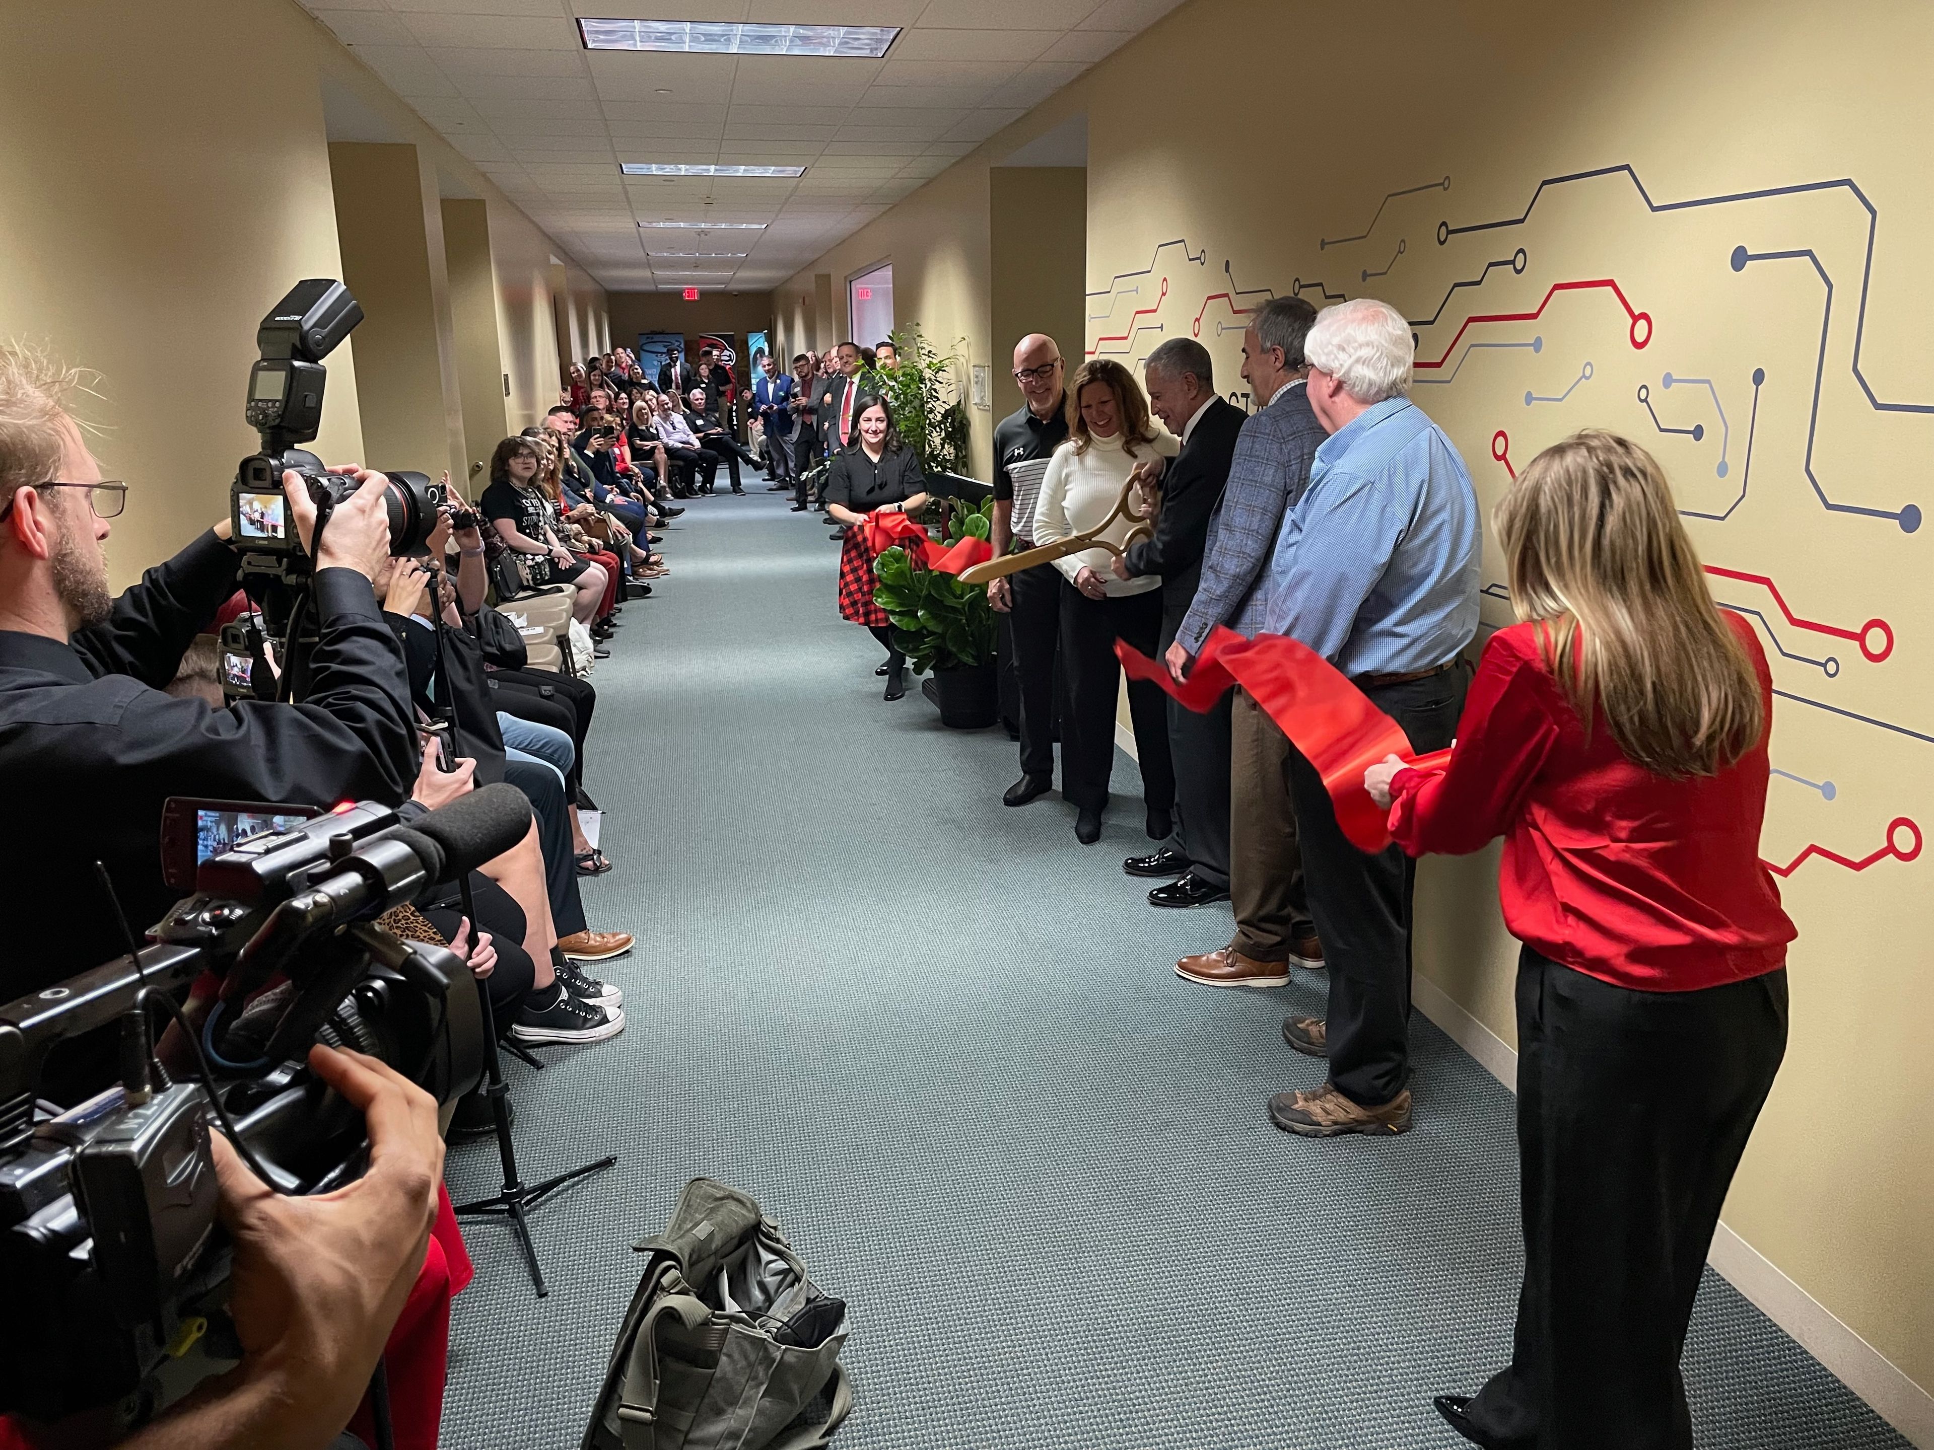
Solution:
<svg viewBox="0 0 1934 1450">
<path fill-rule="evenodd" d="M 1234 690 L 1228 769 L 1228 895 L 1234 947 L 1255 961 L 1288 961 L 1290 942 L 1313 932 L 1304 855 L 1290 806 L 1290 740 L 1276 721 Z"/>
</svg>

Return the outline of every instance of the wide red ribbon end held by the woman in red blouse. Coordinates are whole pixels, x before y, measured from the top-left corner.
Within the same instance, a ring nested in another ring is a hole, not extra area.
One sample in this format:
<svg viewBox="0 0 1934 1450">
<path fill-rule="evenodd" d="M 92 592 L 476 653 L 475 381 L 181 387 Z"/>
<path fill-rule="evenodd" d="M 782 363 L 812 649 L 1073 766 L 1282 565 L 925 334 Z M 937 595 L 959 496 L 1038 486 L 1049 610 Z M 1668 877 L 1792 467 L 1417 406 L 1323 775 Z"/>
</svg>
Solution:
<svg viewBox="0 0 1934 1450">
<path fill-rule="evenodd" d="M 1389 812 L 1363 789 L 1365 769 L 1387 756 L 1398 756 L 1412 769 L 1425 771 L 1443 769 L 1450 762 L 1449 750 L 1414 754 L 1394 719 L 1377 710 L 1323 655 L 1282 634 L 1245 640 L 1216 624 L 1182 684 L 1176 684 L 1166 665 L 1124 640 L 1114 642 L 1114 653 L 1129 679 L 1158 684 L 1197 715 L 1207 713 L 1232 684 L 1247 690 L 1323 775 L 1336 804 L 1336 824 L 1358 851 L 1383 851 L 1391 845 Z"/>
</svg>

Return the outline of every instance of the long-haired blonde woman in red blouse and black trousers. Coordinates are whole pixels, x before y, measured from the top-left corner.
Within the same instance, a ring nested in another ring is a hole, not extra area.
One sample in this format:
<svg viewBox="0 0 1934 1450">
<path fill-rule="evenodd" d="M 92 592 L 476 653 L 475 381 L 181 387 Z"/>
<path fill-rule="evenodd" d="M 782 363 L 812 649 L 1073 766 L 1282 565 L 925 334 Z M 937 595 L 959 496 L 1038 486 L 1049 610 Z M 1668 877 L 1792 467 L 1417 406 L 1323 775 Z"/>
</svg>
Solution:
<svg viewBox="0 0 1934 1450">
<path fill-rule="evenodd" d="M 1772 677 L 1638 445 L 1547 449 L 1495 524 L 1522 623 L 1485 646 L 1450 764 L 1363 779 L 1410 855 L 1505 837 L 1524 942 L 1512 1361 L 1437 1409 L 1501 1450 L 1690 1450 L 1692 1295 L 1787 1042 Z"/>
</svg>

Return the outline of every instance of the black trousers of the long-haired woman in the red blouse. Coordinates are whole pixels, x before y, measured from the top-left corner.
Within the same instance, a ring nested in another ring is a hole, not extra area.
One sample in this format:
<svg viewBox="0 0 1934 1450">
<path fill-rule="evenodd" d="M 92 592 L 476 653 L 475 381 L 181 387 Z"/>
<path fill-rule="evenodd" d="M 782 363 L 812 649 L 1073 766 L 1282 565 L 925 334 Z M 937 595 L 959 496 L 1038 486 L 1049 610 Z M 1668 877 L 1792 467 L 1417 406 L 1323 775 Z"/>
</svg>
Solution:
<svg viewBox="0 0 1934 1450">
<path fill-rule="evenodd" d="M 1510 1365 L 1470 1404 L 1495 1444 L 1692 1448 L 1679 1353 L 1785 1050 L 1783 967 L 1634 992 L 1524 947 L 1524 1290 Z"/>
</svg>

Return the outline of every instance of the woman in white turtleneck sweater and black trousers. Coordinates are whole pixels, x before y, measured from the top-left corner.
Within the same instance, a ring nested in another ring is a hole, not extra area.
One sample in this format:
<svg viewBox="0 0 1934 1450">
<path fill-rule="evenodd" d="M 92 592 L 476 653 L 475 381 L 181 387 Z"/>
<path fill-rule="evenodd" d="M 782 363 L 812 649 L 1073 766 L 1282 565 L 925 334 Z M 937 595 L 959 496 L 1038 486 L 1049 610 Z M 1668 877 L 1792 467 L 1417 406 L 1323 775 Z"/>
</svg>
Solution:
<svg viewBox="0 0 1934 1450">
<path fill-rule="evenodd" d="M 1035 543 L 1052 543 L 1095 528 L 1122 497 L 1139 464 L 1174 458 L 1180 443 L 1149 418 L 1141 385 L 1108 358 L 1085 362 L 1068 385 L 1068 443 L 1054 450 L 1035 507 Z M 1118 518 L 1100 536 L 1122 545 L 1131 520 Z M 1108 572 L 1106 549 L 1083 549 L 1056 559 L 1062 570 L 1062 798 L 1075 806 L 1075 837 L 1100 839 L 1114 769 L 1114 706 L 1122 665 L 1116 636 L 1145 655 L 1157 652 L 1162 630 L 1162 580 L 1155 574 L 1120 580 Z M 1176 771 L 1168 760 L 1168 710 L 1162 692 L 1129 681 L 1128 711 L 1141 756 L 1141 795 L 1149 835 L 1164 839 L 1176 802 Z"/>
</svg>

